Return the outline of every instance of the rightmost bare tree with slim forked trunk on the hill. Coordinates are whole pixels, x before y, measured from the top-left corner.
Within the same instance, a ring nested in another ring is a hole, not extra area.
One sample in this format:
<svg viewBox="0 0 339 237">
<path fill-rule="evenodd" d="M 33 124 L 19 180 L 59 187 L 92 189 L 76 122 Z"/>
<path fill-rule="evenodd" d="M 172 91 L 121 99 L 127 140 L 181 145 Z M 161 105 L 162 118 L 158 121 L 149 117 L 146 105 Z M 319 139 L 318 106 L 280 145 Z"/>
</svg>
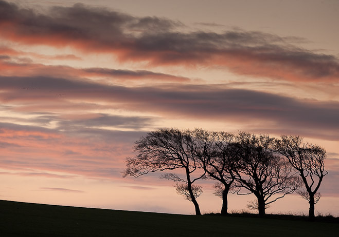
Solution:
<svg viewBox="0 0 339 237">
<path fill-rule="evenodd" d="M 275 150 L 286 156 L 293 168 L 298 171 L 307 192 L 300 195 L 309 201 L 309 218 L 313 220 L 314 206 L 320 199 L 317 191 L 328 174 L 324 164 L 326 150 L 318 145 L 305 144 L 303 140 L 300 136 L 282 135 L 280 140 L 275 140 Z"/>
</svg>

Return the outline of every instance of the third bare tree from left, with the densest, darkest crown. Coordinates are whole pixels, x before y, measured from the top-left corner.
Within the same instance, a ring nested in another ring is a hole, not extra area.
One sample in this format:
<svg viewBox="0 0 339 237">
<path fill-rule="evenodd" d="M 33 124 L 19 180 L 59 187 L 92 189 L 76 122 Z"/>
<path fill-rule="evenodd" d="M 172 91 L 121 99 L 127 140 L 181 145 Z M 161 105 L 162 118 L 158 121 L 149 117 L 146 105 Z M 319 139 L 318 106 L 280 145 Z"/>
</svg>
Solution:
<svg viewBox="0 0 339 237">
<path fill-rule="evenodd" d="M 273 153 L 272 145 L 273 139 L 268 135 L 246 132 L 239 132 L 234 144 L 236 162 L 231 172 L 238 181 L 236 185 L 249 191 L 238 194 L 253 193 L 261 216 L 268 204 L 300 188 L 292 166 L 283 156 Z"/>
</svg>

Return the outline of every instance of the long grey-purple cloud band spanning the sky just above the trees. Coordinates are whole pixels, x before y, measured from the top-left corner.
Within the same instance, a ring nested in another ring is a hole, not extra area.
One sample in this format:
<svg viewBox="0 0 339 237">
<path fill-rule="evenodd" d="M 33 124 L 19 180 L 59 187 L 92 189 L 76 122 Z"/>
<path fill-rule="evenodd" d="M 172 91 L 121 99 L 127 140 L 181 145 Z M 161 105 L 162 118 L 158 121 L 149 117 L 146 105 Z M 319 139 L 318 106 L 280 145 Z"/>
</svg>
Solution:
<svg viewBox="0 0 339 237">
<path fill-rule="evenodd" d="M 100 108 L 101 103 L 106 103 L 106 109 L 148 112 L 156 114 L 159 118 L 180 116 L 201 120 L 246 122 L 248 126 L 260 121 L 259 129 L 266 126 L 265 129 L 272 131 L 299 131 L 301 134 L 308 133 L 330 140 L 337 139 L 339 134 L 338 102 L 234 89 L 227 85 L 124 87 L 86 80 L 36 76 L 0 77 L 0 86 L 5 91 L 0 95 L 0 100 L 18 103 L 12 108 L 15 111 L 60 113 L 62 109 L 81 111 Z M 81 127 L 96 127 L 101 124 L 134 129 L 154 122 L 150 117 L 120 117 L 104 113 L 96 116 L 74 122 L 48 115 L 37 116 L 37 119 L 54 120 L 64 127 L 74 127 L 79 123 Z"/>
</svg>

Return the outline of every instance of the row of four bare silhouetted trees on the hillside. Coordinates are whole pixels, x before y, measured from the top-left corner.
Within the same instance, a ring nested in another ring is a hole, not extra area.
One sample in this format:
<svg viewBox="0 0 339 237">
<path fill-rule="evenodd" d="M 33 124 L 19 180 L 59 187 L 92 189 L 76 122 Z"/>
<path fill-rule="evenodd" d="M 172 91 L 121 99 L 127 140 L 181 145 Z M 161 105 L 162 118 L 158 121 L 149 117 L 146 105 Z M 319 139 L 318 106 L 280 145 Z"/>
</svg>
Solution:
<svg viewBox="0 0 339 237">
<path fill-rule="evenodd" d="M 300 136 L 208 131 L 204 129 L 163 128 L 148 132 L 135 142 L 137 153 L 126 158 L 123 177 L 139 177 L 149 172 L 181 169 L 184 173 L 163 173 L 163 179 L 176 182 L 177 193 L 191 201 L 201 215 L 197 198 L 201 179 L 217 181 L 215 194 L 222 198 L 221 213 L 227 214 L 229 192 L 253 193 L 256 201 L 248 207 L 265 214 L 269 204 L 297 192 L 309 202 L 309 217 L 320 199 L 318 189 L 324 176 L 326 150 L 305 143 Z"/>
</svg>

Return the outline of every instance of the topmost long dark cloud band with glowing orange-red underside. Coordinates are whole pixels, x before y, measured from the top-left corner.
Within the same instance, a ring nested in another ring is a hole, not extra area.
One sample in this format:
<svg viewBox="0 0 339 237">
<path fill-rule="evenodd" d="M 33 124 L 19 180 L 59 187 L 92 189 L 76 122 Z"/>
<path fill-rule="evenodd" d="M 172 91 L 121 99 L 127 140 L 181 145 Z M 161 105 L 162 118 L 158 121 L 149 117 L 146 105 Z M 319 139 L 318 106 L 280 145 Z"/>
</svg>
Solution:
<svg viewBox="0 0 339 237">
<path fill-rule="evenodd" d="M 334 55 L 294 46 L 297 37 L 233 30 L 213 33 L 181 30 L 180 22 L 135 17 L 82 4 L 37 13 L 1 2 L 0 31 L 9 41 L 71 46 L 110 53 L 120 61 L 151 65 L 222 66 L 237 74 L 288 81 L 338 82 Z"/>
</svg>

